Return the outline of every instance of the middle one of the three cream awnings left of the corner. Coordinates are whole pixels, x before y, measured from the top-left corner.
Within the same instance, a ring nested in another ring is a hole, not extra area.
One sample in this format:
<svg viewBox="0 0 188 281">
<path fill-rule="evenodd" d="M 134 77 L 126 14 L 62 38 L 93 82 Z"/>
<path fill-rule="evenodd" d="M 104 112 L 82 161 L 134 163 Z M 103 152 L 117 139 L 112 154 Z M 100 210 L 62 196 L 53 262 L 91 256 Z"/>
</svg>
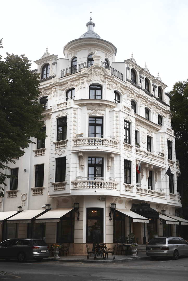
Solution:
<svg viewBox="0 0 188 281">
<path fill-rule="evenodd" d="M 43 213 L 44 210 L 26 210 L 7 219 L 7 223 L 30 223 L 31 219 Z"/>
</svg>

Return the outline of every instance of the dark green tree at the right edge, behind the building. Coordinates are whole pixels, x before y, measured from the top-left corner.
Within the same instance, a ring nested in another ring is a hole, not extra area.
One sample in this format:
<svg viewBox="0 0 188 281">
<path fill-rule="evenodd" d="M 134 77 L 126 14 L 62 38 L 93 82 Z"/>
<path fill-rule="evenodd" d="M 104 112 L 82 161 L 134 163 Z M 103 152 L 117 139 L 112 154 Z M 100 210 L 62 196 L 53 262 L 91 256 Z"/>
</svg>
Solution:
<svg viewBox="0 0 188 281">
<path fill-rule="evenodd" d="M 171 95 L 172 128 L 176 137 L 176 158 L 180 163 L 181 176 L 178 179 L 178 191 L 181 195 L 182 210 L 180 215 L 188 218 L 188 79 L 175 83 Z"/>
</svg>

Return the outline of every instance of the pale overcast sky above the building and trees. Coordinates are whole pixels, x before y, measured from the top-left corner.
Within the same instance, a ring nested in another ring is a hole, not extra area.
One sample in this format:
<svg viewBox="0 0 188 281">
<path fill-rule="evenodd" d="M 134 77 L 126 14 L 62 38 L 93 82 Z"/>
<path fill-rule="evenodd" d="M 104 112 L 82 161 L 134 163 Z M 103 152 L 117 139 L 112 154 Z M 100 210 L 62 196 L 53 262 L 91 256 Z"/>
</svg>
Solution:
<svg viewBox="0 0 188 281">
<path fill-rule="evenodd" d="M 187 74 L 187 0 L 1 0 L 0 37 L 3 58 L 6 52 L 25 54 L 33 62 L 48 47 L 50 55 L 63 55 L 66 43 L 87 31 L 90 18 L 94 31 L 117 48 L 115 62 L 133 56 L 138 65 L 145 62 L 150 73 L 168 85 L 184 81 Z"/>
</svg>

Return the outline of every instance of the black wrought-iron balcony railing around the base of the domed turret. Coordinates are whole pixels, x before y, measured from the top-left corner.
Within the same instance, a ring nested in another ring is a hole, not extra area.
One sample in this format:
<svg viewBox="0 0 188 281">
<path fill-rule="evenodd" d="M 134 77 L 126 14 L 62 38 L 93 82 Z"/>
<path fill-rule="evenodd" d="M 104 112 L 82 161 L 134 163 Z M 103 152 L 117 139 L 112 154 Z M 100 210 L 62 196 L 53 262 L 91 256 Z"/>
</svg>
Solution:
<svg viewBox="0 0 188 281">
<path fill-rule="evenodd" d="M 121 72 L 119 72 L 116 69 L 114 69 L 113 67 L 107 65 L 105 62 L 101 62 L 101 65 L 107 69 L 110 69 L 112 75 L 123 80 L 123 74 Z M 61 71 L 61 77 L 65 77 L 65 76 L 80 72 L 81 68 L 84 68 L 84 67 L 88 68 L 90 66 L 91 66 L 90 62 L 89 62 L 89 64 L 88 64 L 88 62 L 83 62 L 82 64 L 77 64 L 72 67 L 65 68 Z"/>
</svg>

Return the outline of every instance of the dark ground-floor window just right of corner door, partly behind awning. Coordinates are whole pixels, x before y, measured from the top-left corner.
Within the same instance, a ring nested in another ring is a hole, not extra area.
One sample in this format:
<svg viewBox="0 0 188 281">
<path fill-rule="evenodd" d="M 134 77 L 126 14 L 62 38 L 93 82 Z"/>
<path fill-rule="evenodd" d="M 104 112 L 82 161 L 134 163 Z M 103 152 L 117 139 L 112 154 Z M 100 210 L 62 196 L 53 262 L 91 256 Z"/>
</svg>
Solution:
<svg viewBox="0 0 188 281">
<path fill-rule="evenodd" d="M 114 243 L 125 237 L 125 216 L 119 212 L 114 212 Z"/>
</svg>

